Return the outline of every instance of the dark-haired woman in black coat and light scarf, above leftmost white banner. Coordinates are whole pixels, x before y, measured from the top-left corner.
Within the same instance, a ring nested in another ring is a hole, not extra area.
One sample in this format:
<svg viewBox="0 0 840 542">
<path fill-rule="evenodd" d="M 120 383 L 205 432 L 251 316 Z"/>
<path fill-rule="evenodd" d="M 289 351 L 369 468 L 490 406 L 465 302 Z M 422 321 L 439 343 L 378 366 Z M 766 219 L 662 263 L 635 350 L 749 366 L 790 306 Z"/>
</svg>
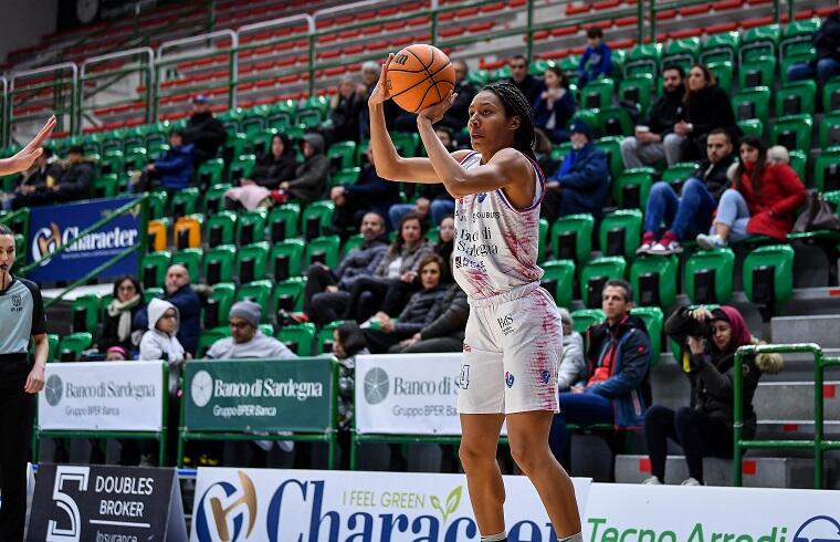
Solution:
<svg viewBox="0 0 840 542">
<path fill-rule="evenodd" d="M 99 352 L 111 346 L 132 352 L 139 344 L 143 329 L 137 330 L 132 322 L 145 305 L 143 288 L 137 279 L 123 275 L 114 281 L 114 299 L 105 310 L 107 316 L 99 337 Z"/>
</svg>

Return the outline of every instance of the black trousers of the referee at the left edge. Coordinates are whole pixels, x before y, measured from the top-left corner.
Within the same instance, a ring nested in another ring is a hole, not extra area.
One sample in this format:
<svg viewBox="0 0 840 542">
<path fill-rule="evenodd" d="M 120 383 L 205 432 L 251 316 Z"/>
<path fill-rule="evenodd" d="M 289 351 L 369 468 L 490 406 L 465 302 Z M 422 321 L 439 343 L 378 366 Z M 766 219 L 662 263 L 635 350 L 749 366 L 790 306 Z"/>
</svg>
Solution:
<svg viewBox="0 0 840 542">
<path fill-rule="evenodd" d="M 23 540 L 27 460 L 36 400 L 23 390 L 28 374 L 0 372 L 0 542 Z"/>
</svg>

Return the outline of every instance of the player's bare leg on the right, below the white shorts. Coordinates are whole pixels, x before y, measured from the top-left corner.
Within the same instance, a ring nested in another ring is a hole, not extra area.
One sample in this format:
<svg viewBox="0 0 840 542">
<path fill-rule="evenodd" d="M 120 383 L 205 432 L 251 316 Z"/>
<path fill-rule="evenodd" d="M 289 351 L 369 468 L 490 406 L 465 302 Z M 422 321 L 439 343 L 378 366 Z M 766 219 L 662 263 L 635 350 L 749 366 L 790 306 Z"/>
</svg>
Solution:
<svg viewBox="0 0 840 542">
<path fill-rule="evenodd" d="M 507 415 L 511 455 L 539 493 L 558 539 L 580 532 L 580 514 L 571 479 L 548 448 L 549 410 Z"/>
</svg>

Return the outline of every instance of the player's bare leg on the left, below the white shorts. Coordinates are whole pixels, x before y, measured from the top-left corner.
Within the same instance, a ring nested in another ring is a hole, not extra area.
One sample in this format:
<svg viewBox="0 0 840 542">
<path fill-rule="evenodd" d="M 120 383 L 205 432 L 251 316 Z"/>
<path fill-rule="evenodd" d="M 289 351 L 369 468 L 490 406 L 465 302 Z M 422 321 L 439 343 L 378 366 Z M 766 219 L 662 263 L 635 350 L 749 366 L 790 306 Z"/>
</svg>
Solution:
<svg viewBox="0 0 840 542">
<path fill-rule="evenodd" d="M 503 414 L 462 414 L 459 456 L 466 473 L 470 503 L 479 532 L 489 536 L 505 530 L 505 487 L 496 462 Z"/>
</svg>

